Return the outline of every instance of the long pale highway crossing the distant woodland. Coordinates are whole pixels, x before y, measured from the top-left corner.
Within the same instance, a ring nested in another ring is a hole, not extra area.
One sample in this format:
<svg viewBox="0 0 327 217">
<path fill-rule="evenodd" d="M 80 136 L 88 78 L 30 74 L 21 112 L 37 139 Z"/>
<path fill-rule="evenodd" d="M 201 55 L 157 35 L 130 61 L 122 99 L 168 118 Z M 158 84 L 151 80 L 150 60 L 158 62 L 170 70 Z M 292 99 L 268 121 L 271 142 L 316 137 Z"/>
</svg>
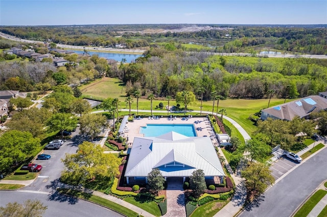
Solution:
<svg viewBox="0 0 327 217">
<path fill-rule="evenodd" d="M 2 32 L 0 32 L 0 36 L 3 38 L 7 38 L 9 40 L 13 41 L 22 41 L 26 43 L 42 43 L 40 41 L 32 41 L 32 40 L 26 40 L 26 39 L 20 39 L 15 36 L 7 35 Z M 66 45 L 66 44 L 57 44 L 57 47 L 61 48 L 67 48 L 67 49 L 86 49 L 86 50 L 97 50 L 97 51 L 109 51 L 109 52 L 115 52 L 115 53 L 124 53 L 124 52 L 132 52 L 136 54 L 142 54 L 146 50 L 142 49 L 121 49 L 121 48 L 107 48 L 107 47 L 90 47 L 90 46 L 75 46 L 75 45 Z M 208 53 L 208 52 L 207 52 Z M 215 53 L 215 52 L 209 52 L 212 55 L 219 55 L 219 56 L 248 56 L 251 57 L 251 53 Z M 267 54 L 267 55 L 256 55 L 256 57 L 269 57 L 269 58 L 315 58 L 315 59 L 327 59 L 326 55 L 295 55 L 295 54 Z"/>
</svg>

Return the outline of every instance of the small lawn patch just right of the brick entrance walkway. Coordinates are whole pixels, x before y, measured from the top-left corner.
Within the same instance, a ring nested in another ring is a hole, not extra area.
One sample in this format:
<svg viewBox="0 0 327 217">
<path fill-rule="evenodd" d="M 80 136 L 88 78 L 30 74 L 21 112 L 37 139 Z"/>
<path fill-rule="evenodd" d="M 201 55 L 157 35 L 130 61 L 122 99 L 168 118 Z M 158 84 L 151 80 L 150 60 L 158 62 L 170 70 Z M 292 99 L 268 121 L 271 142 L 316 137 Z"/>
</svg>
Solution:
<svg viewBox="0 0 327 217">
<path fill-rule="evenodd" d="M 223 200 L 214 200 L 203 206 L 199 206 L 194 212 L 190 215 L 191 217 L 196 216 L 214 216 L 221 208 L 223 208 L 228 201 Z"/>
</svg>

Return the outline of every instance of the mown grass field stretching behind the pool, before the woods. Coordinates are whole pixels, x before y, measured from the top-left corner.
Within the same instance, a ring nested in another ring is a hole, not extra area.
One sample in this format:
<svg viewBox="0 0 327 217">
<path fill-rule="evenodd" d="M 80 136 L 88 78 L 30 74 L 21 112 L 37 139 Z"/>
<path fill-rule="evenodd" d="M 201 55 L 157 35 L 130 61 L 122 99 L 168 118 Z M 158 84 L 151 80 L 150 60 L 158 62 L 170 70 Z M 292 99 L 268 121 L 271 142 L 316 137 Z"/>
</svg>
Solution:
<svg viewBox="0 0 327 217">
<path fill-rule="evenodd" d="M 81 91 L 85 95 L 101 98 L 119 98 L 121 101 L 120 108 L 128 109 L 128 105 L 125 103 L 126 87 L 118 78 L 105 77 L 98 79 L 90 84 L 81 86 Z M 291 101 L 291 100 L 286 100 Z M 164 103 L 164 106 L 168 104 L 167 100 L 153 100 L 152 110 L 155 113 L 156 105 L 160 102 Z M 284 103 L 284 99 L 271 99 L 270 107 Z M 199 111 L 201 102 L 198 101 L 193 105 L 188 105 L 189 110 Z M 215 103 L 216 104 L 216 103 Z M 176 105 L 176 101 L 171 100 L 170 105 Z M 213 101 L 204 101 L 202 111 L 212 111 Z M 249 116 L 259 112 L 268 105 L 268 99 L 226 99 L 219 101 L 219 108 L 225 108 L 227 116 L 238 122 L 250 135 L 253 135 L 256 126 L 249 120 Z M 182 105 L 181 105 L 182 106 Z M 136 99 L 133 99 L 131 109 L 136 109 Z M 150 100 L 139 98 L 138 110 L 150 110 Z M 165 110 L 161 110 L 165 111 Z M 215 108 L 216 111 L 216 108 Z M 160 113 L 161 114 L 161 113 Z M 215 113 L 214 113 L 215 114 Z M 142 114 L 140 114 L 142 115 Z"/>
</svg>

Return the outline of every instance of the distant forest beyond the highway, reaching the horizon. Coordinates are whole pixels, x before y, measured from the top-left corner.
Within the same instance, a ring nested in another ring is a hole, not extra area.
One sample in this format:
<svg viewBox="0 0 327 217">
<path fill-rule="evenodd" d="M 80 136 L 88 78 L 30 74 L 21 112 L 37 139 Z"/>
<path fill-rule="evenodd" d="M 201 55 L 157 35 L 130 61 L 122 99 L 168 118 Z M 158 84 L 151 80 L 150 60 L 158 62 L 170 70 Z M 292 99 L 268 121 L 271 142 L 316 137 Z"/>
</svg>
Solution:
<svg viewBox="0 0 327 217">
<path fill-rule="evenodd" d="M 213 46 L 213 52 L 243 52 L 249 51 L 249 48 L 265 45 L 281 51 L 327 54 L 327 29 L 320 25 L 267 27 L 262 25 L 197 24 L 197 26 L 210 26 L 211 29 L 194 32 L 173 31 L 185 26 L 190 25 L 0 26 L 0 31 L 22 39 L 78 46 L 114 47 L 115 44 L 124 44 L 126 48 L 131 49 L 149 47 L 157 40 L 178 41 L 178 43 L 189 43 L 190 40 L 193 40 L 202 44 L 210 44 Z M 172 30 L 172 32 L 143 32 L 147 29 L 166 29 Z"/>
</svg>

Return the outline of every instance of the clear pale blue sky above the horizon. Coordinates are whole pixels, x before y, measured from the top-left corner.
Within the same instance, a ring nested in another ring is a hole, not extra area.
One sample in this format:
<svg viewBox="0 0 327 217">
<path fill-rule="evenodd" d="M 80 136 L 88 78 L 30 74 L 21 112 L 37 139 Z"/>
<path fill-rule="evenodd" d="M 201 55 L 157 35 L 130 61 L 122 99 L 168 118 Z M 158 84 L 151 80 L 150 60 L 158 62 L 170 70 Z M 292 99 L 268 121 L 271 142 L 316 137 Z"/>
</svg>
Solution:
<svg viewBox="0 0 327 217">
<path fill-rule="evenodd" d="M 0 25 L 327 24 L 327 1 L 0 0 Z"/>
</svg>

